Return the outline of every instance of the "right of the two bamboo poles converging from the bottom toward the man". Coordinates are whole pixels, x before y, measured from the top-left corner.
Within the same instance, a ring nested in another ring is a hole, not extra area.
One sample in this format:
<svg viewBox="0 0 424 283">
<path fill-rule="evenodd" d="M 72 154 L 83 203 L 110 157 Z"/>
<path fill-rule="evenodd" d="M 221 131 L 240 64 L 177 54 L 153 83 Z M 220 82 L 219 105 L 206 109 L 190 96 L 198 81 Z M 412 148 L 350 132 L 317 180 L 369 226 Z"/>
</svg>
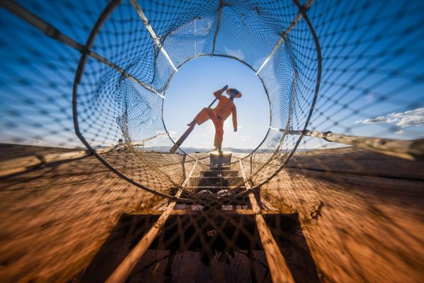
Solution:
<svg viewBox="0 0 424 283">
<path fill-rule="evenodd" d="M 240 160 L 240 170 L 243 174 L 243 179 L 247 180 L 246 173 L 244 172 L 243 163 Z M 250 185 L 248 182 L 245 183 L 246 188 L 249 189 Z M 287 262 L 282 256 L 280 247 L 278 246 L 273 234 L 271 233 L 268 225 L 261 214 L 259 204 L 253 192 L 248 194 L 249 200 L 251 201 L 252 210 L 255 214 L 256 226 L 258 227 L 258 233 L 260 236 L 260 242 L 262 243 L 263 250 L 265 251 L 266 260 L 268 267 L 270 268 L 271 279 L 274 283 L 280 282 L 294 282 L 292 272 L 290 272 Z"/>
</svg>

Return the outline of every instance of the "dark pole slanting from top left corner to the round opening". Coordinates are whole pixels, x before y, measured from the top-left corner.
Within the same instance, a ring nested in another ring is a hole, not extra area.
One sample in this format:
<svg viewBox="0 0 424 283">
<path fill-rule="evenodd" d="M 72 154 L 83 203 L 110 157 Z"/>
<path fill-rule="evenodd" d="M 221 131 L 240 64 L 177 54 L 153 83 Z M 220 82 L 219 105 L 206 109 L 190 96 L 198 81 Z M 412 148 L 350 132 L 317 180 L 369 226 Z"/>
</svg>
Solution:
<svg viewBox="0 0 424 283">
<path fill-rule="evenodd" d="M 49 23 L 46 23 L 45 21 L 42 21 L 41 18 L 38 18 L 38 16 L 35 16 L 35 14 L 31 13 L 30 11 L 27 11 L 25 8 L 17 4 L 15 1 L 10 1 L 10 0 L 0 1 L 0 6 L 5 8 L 7 11 L 15 14 L 16 16 L 22 18 L 24 21 L 26 21 L 30 25 L 33 25 L 33 27 L 38 28 L 38 30 L 41 30 L 48 37 L 51 37 L 52 39 L 57 40 L 59 42 L 62 42 L 65 45 L 71 48 L 74 48 L 75 50 L 78 50 L 81 53 L 86 52 L 88 56 L 90 56 L 91 58 L 96 59 L 98 62 L 108 65 L 109 67 L 120 72 L 126 78 L 131 79 L 132 81 L 138 83 L 143 88 L 146 88 L 148 91 L 151 91 L 152 93 L 156 93 L 161 98 L 164 98 L 164 96 L 162 96 L 159 93 L 159 91 L 157 91 L 155 88 L 149 86 L 147 83 L 143 83 L 142 81 L 139 81 L 138 79 L 134 78 L 134 76 L 132 76 L 131 74 L 128 74 L 124 69 L 122 69 L 118 65 L 114 64 L 113 62 L 110 62 L 108 59 L 102 57 L 96 52 L 93 52 L 93 50 L 86 48 L 85 45 L 82 45 L 81 43 L 77 42 L 71 37 L 64 35 L 57 28 L 50 25 Z"/>
</svg>

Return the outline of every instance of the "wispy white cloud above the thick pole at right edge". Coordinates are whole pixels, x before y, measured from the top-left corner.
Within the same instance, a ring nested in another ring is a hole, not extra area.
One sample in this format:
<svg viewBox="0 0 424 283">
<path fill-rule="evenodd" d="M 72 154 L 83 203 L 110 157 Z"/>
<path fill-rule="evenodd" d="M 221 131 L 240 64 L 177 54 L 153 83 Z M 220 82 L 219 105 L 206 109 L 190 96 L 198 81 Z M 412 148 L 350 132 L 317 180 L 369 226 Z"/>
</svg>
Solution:
<svg viewBox="0 0 424 283">
<path fill-rule="evenodd" d="M 378 116 L 365 120 L 356 121 L 355 124 L 362 123 L 365 125 L 379 124 L 379 123 L 396 123 L 398 127 L 413 127 L 424 125 L 424 108 L 417 108 L 415 110 L 408 110 L 405 112 L 394 112 L 384 116 Z M 400 132 L 400 131 L 398 131 Z M 402 132 L 403 134 L 403 132 Z"/>
</svg>

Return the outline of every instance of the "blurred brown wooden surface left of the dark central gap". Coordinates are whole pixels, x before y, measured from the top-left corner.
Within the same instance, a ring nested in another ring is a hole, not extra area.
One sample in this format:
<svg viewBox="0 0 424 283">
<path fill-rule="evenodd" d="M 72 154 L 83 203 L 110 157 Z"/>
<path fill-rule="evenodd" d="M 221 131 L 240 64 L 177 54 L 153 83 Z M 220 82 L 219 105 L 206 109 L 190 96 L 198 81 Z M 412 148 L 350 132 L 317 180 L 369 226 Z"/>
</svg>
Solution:
<svg viewBox="0 0 424 283">
<path fill-rule="evenodd" d="M 94 157 L 3 178 L 1 281 L 69 281 L 91 262 L 120 214 L 158 201 Z"/>
</svg>

